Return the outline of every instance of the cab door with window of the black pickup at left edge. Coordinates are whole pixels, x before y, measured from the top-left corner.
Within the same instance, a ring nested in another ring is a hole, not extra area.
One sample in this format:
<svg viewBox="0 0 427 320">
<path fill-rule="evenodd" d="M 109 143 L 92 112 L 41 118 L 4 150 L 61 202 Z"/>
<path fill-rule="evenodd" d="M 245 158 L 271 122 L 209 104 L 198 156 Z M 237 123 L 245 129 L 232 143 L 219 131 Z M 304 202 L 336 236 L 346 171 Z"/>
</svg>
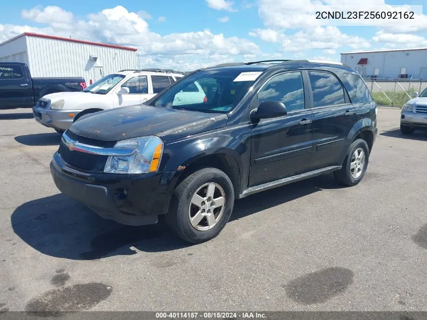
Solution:
<svg viewBox="0 0 427 320">
<path fill-rule="evenodd" d="M 31 78 L 21 65 L 0 63 L 0 108 L 32 107 Z"/>
</svg>

